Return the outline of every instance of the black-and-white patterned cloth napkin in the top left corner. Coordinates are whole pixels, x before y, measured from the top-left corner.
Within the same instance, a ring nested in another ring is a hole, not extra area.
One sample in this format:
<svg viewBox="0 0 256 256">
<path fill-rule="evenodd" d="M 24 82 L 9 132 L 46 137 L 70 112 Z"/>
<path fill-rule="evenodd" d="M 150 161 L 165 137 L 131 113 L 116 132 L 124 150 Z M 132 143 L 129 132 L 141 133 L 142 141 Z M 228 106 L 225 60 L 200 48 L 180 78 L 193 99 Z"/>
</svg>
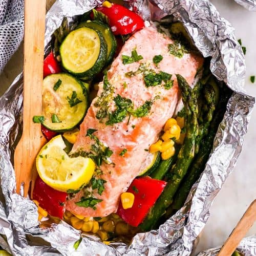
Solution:
<svg viewBox="0 0 256 256">
<path fill-rule="evenodd" d="M 19 47 L 23 35 L 24 0 L 0 0 L 0 74 Z"/>
</svg>

